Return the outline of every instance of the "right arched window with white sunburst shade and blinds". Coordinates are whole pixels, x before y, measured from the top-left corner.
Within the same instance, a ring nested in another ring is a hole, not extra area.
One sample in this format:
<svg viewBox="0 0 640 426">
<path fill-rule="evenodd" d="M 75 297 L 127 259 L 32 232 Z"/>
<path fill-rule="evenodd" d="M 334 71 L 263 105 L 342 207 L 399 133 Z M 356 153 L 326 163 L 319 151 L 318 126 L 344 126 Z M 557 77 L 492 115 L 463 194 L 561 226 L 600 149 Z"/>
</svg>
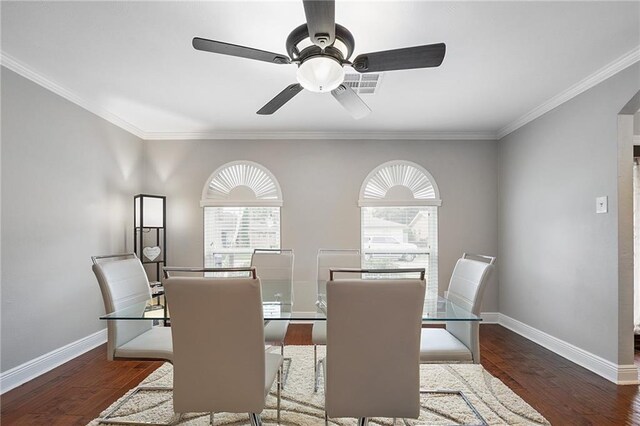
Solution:
<svg viewBox="0 0 640 426">
<path fill-rule="evenodd" d="M 438 288 L 438 206 L 440 191 L 423 167 L 389 161 L 362 183 L 360 199 L 364 268 L 427 270 Z"/>
</svg>

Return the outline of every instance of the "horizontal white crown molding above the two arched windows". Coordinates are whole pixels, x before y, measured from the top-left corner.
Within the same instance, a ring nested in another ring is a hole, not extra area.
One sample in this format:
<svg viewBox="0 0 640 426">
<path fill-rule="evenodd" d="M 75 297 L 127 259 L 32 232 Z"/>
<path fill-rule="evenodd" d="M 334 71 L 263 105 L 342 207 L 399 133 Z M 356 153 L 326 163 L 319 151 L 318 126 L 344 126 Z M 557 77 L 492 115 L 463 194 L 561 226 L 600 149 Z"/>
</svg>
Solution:
<svg viewBox="0 0 640 426">
<path fill-rule="evenodd" d="M 364 139 L 364 140 L 496 140 L 493 132 L 147 132 L 146 140 L 202 139 Z"/>
</svg>

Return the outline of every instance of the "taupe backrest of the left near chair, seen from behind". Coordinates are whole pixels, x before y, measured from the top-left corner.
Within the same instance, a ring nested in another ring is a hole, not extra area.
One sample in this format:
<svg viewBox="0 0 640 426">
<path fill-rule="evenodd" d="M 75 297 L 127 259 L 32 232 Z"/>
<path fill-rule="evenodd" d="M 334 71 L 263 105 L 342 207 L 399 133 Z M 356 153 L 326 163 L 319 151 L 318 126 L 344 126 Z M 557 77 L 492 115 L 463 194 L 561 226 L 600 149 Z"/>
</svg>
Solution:
<svg viewBox="0 0 640 426">
<path fill-rule="evenodd" d="M 260 280 L 169 277 L 176 413 L 260 413 L 265 405 Z"/>
</svg>

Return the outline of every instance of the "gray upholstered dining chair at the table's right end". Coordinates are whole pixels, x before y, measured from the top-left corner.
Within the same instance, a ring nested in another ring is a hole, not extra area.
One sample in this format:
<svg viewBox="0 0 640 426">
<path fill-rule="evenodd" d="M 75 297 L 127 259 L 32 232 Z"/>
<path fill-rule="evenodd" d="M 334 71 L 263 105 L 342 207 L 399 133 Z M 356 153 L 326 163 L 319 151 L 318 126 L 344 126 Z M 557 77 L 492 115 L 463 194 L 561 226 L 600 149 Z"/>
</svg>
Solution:
<svg viewBox="0 0 640 426">
<path fill-rule="evenodd" d="M 475 315 L 495 257 L 463 253 L 451 274 L 447 299 Z M 423 328 L 420 362 L 480 363 L 480 324 L 477 321 L 447 321 L 446 328 Z"/>
</svg>

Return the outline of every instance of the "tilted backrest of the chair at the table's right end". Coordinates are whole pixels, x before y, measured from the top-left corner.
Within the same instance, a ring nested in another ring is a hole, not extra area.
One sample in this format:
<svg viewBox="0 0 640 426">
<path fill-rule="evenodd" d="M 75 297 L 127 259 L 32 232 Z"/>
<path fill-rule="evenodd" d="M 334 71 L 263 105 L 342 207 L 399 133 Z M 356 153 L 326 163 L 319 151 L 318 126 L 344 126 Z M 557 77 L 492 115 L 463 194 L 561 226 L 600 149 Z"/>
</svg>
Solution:
<svg viewBox="0 0 640 426">
<path fill-rule="evenodd" d="M 474 257 L 475 260 L 470 257 Z M 487 287 L 488 278 L 493 270 L 495 257 L 463 253 L 453 268 L 447 299 L 475 315 L 480 314 L 482 297 Z M 449 321 L 447 331 L 471 351 L 473 361 L 480 362 L 479 323 L 470 321 Z"/>
</svg>

